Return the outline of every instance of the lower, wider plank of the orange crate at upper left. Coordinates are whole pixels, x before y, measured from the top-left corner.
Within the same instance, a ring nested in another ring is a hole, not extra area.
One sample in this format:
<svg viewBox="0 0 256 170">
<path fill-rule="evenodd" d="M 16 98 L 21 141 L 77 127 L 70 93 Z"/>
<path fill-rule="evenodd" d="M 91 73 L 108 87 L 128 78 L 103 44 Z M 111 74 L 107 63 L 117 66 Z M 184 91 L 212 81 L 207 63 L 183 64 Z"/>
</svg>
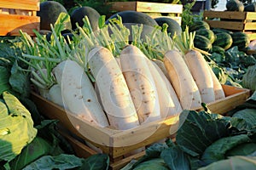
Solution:
<svg viewBox="0 0 256 170">
<path fill-rule="evenodd" d="M 19 36 L 19 31 L 34 35 L 32 29 L 39 30 L 40 18 L 18 14 L 0 14 L 0 36 Z"/>
</svg>

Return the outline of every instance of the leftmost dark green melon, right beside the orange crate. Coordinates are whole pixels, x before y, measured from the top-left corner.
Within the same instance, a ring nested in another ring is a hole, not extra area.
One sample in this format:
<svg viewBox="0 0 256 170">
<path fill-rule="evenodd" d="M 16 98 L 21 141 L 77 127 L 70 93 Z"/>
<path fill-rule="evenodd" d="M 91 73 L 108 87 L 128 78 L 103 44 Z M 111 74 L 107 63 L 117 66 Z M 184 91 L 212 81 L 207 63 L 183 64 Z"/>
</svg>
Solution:
<svg viewBox="0 0 256 170">
<path fill-rule="evenodd" d="M 40 30 L 50 31 L 50 24 L 54 25 L 61 13 L 67 14 L 67 9 L 61 3 L 55 1 L 40 3 L 40 10 L 37 12 L 40 17 Z M 71 22 L 66 25 L 66 29 L 72 29 Z"/>
</svg>

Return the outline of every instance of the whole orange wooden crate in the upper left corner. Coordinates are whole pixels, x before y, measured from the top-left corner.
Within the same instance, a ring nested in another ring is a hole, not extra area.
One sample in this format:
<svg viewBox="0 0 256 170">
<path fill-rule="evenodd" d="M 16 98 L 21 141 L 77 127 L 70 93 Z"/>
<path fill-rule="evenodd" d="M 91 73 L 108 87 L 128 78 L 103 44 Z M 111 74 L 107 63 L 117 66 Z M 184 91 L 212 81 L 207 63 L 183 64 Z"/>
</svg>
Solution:
<svg viewBox="0 0 256 170">
<path fill-rule="evenodd" d="M 20 30 L 33 36 L 40 26 L 38 10 L 38 0 L 1 0 L 0 36 L 20 36 Z"/>
</svg>

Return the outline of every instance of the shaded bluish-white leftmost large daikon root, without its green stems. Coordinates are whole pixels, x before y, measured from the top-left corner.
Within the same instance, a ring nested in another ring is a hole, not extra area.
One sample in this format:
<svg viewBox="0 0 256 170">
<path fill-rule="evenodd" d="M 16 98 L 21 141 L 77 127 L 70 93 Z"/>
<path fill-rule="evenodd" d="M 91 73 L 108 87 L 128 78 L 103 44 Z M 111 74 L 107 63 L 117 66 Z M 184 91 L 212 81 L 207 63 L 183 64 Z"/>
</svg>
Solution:
<svg viewBox="0 0 256 170">
<path fill-rule="evenodd" d="M 69 111 L 100 127 L 108 126 L 108 119 L 83 67 L 75 61 L 64 60 L 56 65 L 53 73 L 61 87 L 63 103 Z"/>
</svg>

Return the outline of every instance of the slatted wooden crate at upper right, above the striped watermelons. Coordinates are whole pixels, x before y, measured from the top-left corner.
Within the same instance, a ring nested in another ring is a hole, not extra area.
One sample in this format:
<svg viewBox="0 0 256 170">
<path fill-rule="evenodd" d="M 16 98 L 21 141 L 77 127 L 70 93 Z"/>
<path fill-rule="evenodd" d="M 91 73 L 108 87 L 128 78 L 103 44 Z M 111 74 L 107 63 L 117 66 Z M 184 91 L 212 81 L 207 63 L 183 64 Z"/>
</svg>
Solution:
<svg viewBox="0 0 256 170">
<path fill-rule="evenodd" d="M 242 31 L 246 32 L 251 40 L 256 39 L 256 12 L 204 11 L 203 17 L 212 28 Z"/>
</svg>

